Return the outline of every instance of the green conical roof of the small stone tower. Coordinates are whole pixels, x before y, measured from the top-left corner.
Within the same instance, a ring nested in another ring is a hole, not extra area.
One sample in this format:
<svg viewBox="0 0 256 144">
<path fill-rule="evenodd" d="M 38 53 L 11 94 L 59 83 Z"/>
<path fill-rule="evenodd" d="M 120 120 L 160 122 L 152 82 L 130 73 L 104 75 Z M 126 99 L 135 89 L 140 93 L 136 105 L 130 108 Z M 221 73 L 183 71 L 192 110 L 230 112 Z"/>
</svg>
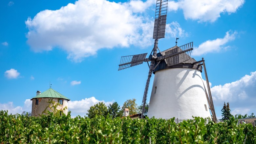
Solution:
<svg viewBox="0 0 256 144">
<path fill-rule="evenodd" d="M 59 99 L 67 99 L 68 101 L 70 100 L 52 88 L 49 88 L 48 90 L 42 92 L 41 94 L 35 96 L 32 99 L 36 99 L 36 98 L 59 98 Z"/>
</svg>

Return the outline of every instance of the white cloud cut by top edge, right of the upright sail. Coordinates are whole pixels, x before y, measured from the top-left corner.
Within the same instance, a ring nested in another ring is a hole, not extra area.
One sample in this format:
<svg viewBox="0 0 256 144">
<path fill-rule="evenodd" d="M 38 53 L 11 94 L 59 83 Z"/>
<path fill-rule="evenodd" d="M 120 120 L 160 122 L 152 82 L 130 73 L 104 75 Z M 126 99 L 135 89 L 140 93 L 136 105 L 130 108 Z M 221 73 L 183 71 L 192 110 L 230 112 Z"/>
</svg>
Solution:
<svg viewBox="0 0 256 144">
<path fill-rule="evenodd" d="M 244 3 L 245 0 L 178 0 L 169 1 L 168 9 L 182 9 L 185 19 L 214 22 L 221 13 L 234 13 Z"/>
</svg>

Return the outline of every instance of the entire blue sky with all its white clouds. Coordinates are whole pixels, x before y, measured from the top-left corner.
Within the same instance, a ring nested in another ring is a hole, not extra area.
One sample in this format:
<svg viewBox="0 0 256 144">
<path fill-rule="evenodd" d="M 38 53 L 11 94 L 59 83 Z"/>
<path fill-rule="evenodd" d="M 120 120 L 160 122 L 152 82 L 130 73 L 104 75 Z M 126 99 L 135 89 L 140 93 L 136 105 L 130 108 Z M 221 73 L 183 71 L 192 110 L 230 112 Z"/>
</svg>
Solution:
<svg viewBox="0 0 256 144">
<path fill-rule="evenodd" d="M 118 71 L 121 56 L 150 53 L 156 0 L 1 0 L 0 109 L 31 111 L 36 91 L 67 98 L 73 117 L 90 106 L 142 102 L 146 63 Z M 205 59 L 216 115 L 256 114 L 256 2 L 169 0 L 161 51 L 194 42 Z M 149 55 L 149 54 L 148 54 Z M 147 56 L 148 57 L 148 56 Z M 204 73 L 202 73 L 203 79 Z M 154 75 L 149 85 L 150 99 Z"/>
</svg>

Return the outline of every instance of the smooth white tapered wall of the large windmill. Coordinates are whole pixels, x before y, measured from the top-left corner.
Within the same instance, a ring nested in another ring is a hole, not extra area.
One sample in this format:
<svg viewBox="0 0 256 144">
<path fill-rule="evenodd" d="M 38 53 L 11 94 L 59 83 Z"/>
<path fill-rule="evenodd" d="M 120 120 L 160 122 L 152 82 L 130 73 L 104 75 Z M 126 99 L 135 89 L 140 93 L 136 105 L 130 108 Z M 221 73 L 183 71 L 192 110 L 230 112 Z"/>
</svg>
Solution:
<svg viewBox="0 0 256 144">
<path fill-rule="evenodd" d="M 148 117 L 211 117 L 201 72 L 193 68 L 157 71 L 149 101 Z"/>
</svg>

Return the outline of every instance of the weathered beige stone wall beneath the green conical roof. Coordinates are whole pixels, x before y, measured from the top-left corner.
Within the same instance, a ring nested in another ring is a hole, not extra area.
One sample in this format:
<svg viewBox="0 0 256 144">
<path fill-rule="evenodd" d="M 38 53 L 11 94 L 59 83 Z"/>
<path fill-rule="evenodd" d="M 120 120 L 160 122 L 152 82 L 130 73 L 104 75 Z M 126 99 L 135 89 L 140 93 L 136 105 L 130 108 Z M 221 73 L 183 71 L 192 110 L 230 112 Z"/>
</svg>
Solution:
<svg viewBox="0 0 256 144">
<path fill-rule="evenodd" d="M 50 112 L 53 112 L 53 110 L 50 108 L 53 106 L 52 103 L 49 103 L 49 101 L 52 99 L 56 103 L 59 103 L 59 99 L 57 98 L 37 98 L 39 100 L 38 104 L 36 104 L 36 99 L 32 99 L 32 111 L 31 115 L 35 117 L 39 117 L 42 115 L 42 113 L 45 111 L 47 113 L 47 110 Z M 49 106 L 50 105 L 50 106 Z M 67 107 L 65 110 L 63 110 L 65 107 Z M 63 104 L 58 105 L 57 110 L 62 110 L 63 114 L 68 114 L 68 100 L 63 99 Z"/>
</svg>

